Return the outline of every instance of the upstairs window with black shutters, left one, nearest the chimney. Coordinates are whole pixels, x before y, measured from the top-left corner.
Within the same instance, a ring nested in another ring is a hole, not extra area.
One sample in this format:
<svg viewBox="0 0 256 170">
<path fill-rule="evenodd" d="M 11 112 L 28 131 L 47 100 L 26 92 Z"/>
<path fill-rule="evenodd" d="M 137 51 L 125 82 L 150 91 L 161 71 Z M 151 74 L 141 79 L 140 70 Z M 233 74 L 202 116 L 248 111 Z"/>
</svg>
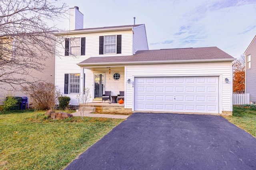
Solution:
<svg viewBox="0 0 256 170">
<path fill-rule="evenodd" d="M 65 39 L 65 56 L 69 55 L 85 55 L 85 37 Z"/>
</svg>

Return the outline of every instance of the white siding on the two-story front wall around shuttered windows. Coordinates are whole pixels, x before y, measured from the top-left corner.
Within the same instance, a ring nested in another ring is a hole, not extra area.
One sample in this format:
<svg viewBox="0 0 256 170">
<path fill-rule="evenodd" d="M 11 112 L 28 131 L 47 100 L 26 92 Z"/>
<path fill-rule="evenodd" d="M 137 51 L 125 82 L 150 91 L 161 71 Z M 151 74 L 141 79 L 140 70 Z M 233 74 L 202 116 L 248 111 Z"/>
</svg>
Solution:
<svg viewBox="0 0 256 170">
<path fill-rule="evenodd" d="M 70 57 L 64 56 L 64 47 L 65 42 L 63 41 L 62 45 L 56 46 L 56 78 L 55 85 L 57 89 L 64 95 L 64 75 L 65 74 L 75 74 L 81 72 L 81 68 L 77 65 L 78 63 L 88 59 L 89 57 L 102 57 L 99 55 L 99 36 L 107 36 L 107 35 L 122 35 L 122 54 L 106 54 L 105 57 L 109 56 L 125 56 L 132 55 L 132 30 L 130 31 L 111 31 L 111 32 L 100 32 L 100 33 L 79 33 L 72 34 L 70 37 L 86 37 L 86 55 L 85 56 L 77 56 Z M 121 70 L 120 70 L 121 69 Z M 124 67 L 120 69 L 116 69 L 115 67 L 111 67 L 111 74 L 108 73 L 108 68 L 102 68 L 103 72 L 106 72 L 106 88 L 105 90 L 116 87 L 111 94 L 119 94 L 119 91 L 124 91 Z M 101 69 L 100 69 L 101 71 Z M 120 79 L 114 80 L 113 74 L 114 72 L 120 73 Z M 90 89 L 90 95 L 93 96 L 93 71 L 84 69 L 86 81 L 85 87 Z M 111 81 L 109 81 L 111 80 Z M 119 90 L 120 89 L 120 90 Z M 76 100 L 77 94 L 67 94 L 70 97 L 70 102 L 72 105 L 76 105 L 78 102 Z M 92 101 L 92 99 L 91 99 Z"/>
</svg>

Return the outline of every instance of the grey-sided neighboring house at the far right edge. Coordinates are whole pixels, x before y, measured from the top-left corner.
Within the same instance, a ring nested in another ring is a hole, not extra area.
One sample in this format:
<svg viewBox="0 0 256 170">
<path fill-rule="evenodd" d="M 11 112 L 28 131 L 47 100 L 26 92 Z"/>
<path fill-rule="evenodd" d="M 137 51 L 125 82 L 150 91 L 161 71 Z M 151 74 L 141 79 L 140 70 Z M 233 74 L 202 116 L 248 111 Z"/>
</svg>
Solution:
<svg viewBox="0 0 256 170">
<path fill-rule="evenodd" d="M 250 104 L 256 104 L 256 36 L 244 52 L 245 92 L 250 94 Z"/>
</svg>

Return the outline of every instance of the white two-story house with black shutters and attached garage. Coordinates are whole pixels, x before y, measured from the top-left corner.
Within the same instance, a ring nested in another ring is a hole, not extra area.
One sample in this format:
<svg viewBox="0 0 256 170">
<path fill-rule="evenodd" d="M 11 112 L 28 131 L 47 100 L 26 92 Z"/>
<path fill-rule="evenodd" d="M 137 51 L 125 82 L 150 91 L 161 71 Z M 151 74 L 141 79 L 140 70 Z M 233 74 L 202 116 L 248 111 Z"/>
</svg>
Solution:
<svg viewBox="0 0 256 170">
<path fill-rule="evenodd" d="M 90 102 L 101 102 L 104 91 L 114 96 L 124 91 L 124 108 L 130 111 L 232 114 L 235 59 L 217 47 L 148 50 L 144 24 L 57 36 L 70 37 L 58 47 L 56 86 L 72 104 L 85 87 Z"/>
</svg>

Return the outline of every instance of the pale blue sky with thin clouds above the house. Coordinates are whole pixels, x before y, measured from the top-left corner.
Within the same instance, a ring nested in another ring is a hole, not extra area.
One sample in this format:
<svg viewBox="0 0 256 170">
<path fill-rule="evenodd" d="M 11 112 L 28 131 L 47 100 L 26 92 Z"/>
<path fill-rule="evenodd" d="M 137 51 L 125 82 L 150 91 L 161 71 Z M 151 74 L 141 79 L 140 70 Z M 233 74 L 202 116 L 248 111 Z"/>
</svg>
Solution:
<svg viewBox="0 0 256 170">
<path fill-rule="evenodd" d="M 84 28 L 145 24 L 148 47 L 218 47 L 232 57 L 256 35 L 256 0 L 61 0 L 79 7 Z M 58 2 L 60 3 L 60 2 Z M 56 4 L 57 5 L 57 4 Z M 68 30 L 69 20 L 56 21 Z"/>
</svg>

